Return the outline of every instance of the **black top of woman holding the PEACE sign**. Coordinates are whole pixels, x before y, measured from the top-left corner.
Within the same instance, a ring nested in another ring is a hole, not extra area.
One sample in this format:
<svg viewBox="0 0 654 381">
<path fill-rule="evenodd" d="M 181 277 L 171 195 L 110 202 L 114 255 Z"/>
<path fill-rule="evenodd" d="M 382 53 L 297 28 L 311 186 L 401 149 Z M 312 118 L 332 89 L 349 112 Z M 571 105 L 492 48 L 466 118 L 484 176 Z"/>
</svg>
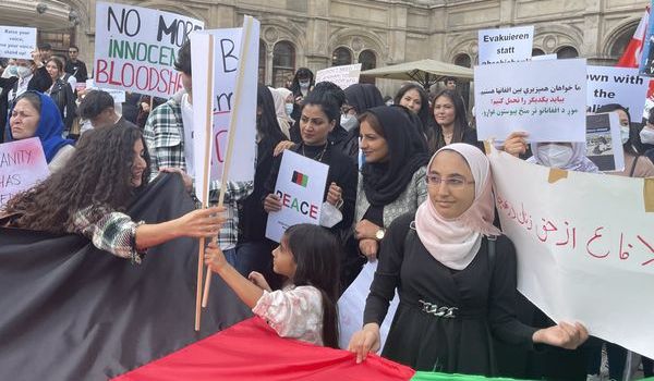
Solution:
<svg viewBox="0 0 654 381">
<path fill-rule="evenodd" d="M 312 147 L 299 144 L 290 148 L 293 152 L 302 155 L 302 147 L 304 147 L 304 153 L 308 158 L 319 156 L 318 151 L 322 151 L 325 146 Z M 281 164 L 282 155 L 272 159 L 272 170 L 264 186 L 263 199 L 275 192 L 275 183 L 277 183 L 277 175 L 279 174 L 279 165 Z M 343 219 L 337 223 L 330 230 L 337 235 L 340 235 L 339 231 L 347 231 L 352 225 L 354 220 L 354 202 L 356 201 L 356 182 L 358 172 L 356 164 L 338 149 L 335 149 L 332 145 L 327 144 L 327 149 L 322 157 L 320 162 L 329 165 L 329 172 L 327 173 L 327 183 L 325 184 L 325 195 L 323 200 L 327 199 L 327 192 L 329 190 L 329 184 L 332 182 L 340 186 L 342 189 L 343 206 L 341 212 Z"/>
</svg>

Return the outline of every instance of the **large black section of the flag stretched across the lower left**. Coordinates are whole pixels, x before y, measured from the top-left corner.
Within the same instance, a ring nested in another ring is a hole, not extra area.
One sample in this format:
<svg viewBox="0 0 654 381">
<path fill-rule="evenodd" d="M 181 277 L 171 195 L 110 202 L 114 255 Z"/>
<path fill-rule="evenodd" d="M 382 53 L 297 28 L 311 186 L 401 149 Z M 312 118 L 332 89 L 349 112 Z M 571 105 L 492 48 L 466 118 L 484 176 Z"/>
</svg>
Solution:
<svg viewBox="0 0 654 381">
<path fill-rule="evenodd" d="M 156 223 L 193 207 L 181 177 L 166 174 L 128 213 Z M 197 250 L 178 238 L 132 265 L 78 235 L 0 229 L 0 379 L 107 380 L 252 316 L 213 276 L 194 331 Z"/>
</svg>

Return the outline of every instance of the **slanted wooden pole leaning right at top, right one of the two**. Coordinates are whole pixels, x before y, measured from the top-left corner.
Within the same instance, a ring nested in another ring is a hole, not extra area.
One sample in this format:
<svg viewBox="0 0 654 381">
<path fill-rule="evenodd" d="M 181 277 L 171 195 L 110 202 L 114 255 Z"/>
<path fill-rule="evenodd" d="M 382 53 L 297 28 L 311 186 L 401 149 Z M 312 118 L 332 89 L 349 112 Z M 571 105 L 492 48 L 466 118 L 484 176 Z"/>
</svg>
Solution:
<svg viewBox="0 0 654 381">
<path fill-rule="evenodd" d="M 227 152 L 225 157 L 225 162 L 222 165 L 222 177 L 220 179 L 220 196 L 218 197 L 218 206 L 222 206 L 225 201 L 225 190 L 227 188 L 227 181 L 229 179 L 229 167 L 231 165 L 232 153 L 234 149 L 234 140 L 237 136 L 237 121 L 238 116 L 241 112 L 239 105 L 241 103 L 241 97 L 243 95 L 243 69 L 245 66 L 245 62 L 247 62 L 247 44 L 250 42 L 250 35 L 252 34 L 252 16 L 245 16 L 243 20 L 243 34 L 241 35 L 241 56 L 239 60 L 239 76 L 237 77 L 237 86 L 235 86 L 235 101 L 234 109 L 231 114 L 231 119 L 229 121 L 229 137 L 227 140 Z M 202 297 L 202 306 L 206 307 L 209 299 L 209 285 L 211 284 L 211 272 L 207 272 L 207 279 L 205 280 L 205 290 L 204 295 Z"/>
</svg>

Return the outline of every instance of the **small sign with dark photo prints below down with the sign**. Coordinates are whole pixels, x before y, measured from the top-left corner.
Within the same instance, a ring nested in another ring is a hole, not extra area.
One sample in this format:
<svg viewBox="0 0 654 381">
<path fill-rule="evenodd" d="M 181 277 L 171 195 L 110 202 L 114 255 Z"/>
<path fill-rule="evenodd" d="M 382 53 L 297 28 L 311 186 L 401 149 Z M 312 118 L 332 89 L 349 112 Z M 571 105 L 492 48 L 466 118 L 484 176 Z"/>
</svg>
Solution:
<svg viewBox="0 0 654 381">
<path fill-rule="evenodd" d="M 625 149 L 617 112 L 586 115 L 585 155 L 600 171 L 625 170 Z"/>
</svg>

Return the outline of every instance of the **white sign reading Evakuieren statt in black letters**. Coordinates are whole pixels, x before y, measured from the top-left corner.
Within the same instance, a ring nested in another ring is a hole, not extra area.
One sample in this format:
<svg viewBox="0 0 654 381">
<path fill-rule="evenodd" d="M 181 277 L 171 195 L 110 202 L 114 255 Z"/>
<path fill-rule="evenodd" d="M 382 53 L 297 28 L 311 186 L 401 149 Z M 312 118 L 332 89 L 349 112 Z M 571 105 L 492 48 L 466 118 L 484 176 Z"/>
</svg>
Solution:
<svg viewBox="0 0 654 381">
<path fill-rule="evenodd" d="M 480 64 L 529 61 L 533 45 L 533 25 L 479 30 Z"/>
</svg>

